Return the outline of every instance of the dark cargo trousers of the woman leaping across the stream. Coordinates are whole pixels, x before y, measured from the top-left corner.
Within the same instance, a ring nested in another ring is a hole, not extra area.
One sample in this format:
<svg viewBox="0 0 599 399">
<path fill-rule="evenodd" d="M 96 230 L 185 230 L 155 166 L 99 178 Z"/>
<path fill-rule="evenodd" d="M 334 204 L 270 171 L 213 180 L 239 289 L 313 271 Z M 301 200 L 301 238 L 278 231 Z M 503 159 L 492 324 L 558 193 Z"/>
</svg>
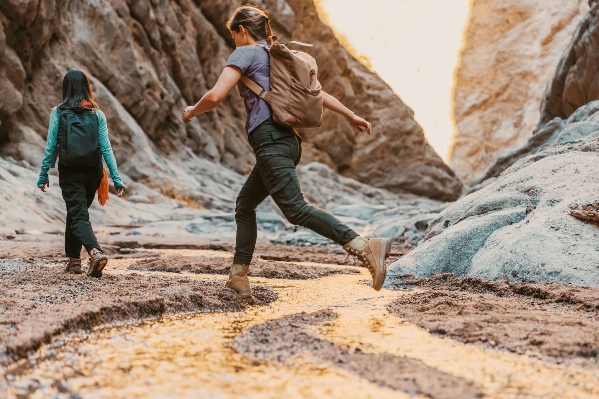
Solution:
<svg viewBox="0 0 599 399">
<path fill-rule="evenodd" d="M 308 204 L 295 170 L 301 159 L 301 138 L 272 118 L 249 135 L 256 165 L 241 187 L 235 206 L 237 240 L 234 261 L 249 265 L 256 246 L 256 208 L 269 195 L 287 220 L 341 245 L 358 234 L 323 209 Z"/>
</svg>

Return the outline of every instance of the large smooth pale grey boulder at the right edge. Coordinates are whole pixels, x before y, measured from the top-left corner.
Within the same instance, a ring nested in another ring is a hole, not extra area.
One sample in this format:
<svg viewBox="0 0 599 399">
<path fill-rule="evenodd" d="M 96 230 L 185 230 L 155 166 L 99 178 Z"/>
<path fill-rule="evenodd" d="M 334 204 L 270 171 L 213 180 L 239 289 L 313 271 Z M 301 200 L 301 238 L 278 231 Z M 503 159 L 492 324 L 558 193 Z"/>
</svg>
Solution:
<svg viewBox="0 0 599 399">
<path fill-rule="evenodd" d="M 595 101 L 547 123 L 537 151 L 441 212 L 389 274 L 599 285 L 599 229 L 571 216 L 599 200 L 598 120 Z"/>
</svg>

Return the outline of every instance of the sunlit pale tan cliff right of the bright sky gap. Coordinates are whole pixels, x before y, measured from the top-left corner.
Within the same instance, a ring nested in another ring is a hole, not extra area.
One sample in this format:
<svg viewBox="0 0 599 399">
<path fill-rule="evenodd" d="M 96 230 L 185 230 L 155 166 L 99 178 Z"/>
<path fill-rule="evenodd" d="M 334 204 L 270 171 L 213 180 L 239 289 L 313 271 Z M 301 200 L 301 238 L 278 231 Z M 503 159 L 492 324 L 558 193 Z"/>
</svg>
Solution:
<svg viewBox="0 0 599 399">
<path fill-rule="evenodd" d="M 547 81 L 588 8 L 587 0 L 473 0 L 456 72 L 458 129 L 449 164 L 467 183 L 530 138 Z M 593 65 L 589 61 L 597 69 Z M 568 115 L 554 112 L 543 120 Z"/>
</svg>

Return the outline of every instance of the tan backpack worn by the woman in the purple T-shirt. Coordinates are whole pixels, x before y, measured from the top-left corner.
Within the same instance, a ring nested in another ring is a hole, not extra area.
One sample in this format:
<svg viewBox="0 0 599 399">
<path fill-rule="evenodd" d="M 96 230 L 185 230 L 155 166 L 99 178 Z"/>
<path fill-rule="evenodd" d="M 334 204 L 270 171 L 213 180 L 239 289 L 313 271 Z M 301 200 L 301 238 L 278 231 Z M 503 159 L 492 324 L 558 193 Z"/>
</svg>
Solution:
<svg viewBox="0 0 599 399">
<path fill-rule="evenodd" d="M 241 81 L 266 100 L 273 109 L 275 122 L 291 127 L 320 127 L 322 124 L 322 87 L 317 79 L 316 60 L 302 51 L 289 50 L 277 36 L 270 36 L 270 48 L 260 45 L 270 55 L 270 92 L 242 75 Z M 288 44 L 312 47 L 291 41 Z"/>
</svg>

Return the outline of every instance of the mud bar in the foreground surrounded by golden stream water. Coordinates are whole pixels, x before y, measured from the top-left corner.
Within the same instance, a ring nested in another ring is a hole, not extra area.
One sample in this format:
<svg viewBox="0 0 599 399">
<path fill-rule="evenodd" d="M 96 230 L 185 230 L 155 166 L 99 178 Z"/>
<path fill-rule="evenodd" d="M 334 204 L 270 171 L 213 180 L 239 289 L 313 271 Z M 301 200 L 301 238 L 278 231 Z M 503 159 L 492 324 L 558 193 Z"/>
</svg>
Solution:
<svg viewBox="0 0 599 399">
<path fill-rule="evenodd" d="M 237 352 L 253 365 L 297 367 L 308 358 L 320 367 L 338 368 L 376 385 L 429 398 L 480 398 L 476 383 L 426 366 L 420 360 L 388 353 L 368 353 L 368 346 L 350 348 L 326 336 L 338 315 L 332 310 L 297 313 L 247 328 L 234 340 Z"/>
</svg>

